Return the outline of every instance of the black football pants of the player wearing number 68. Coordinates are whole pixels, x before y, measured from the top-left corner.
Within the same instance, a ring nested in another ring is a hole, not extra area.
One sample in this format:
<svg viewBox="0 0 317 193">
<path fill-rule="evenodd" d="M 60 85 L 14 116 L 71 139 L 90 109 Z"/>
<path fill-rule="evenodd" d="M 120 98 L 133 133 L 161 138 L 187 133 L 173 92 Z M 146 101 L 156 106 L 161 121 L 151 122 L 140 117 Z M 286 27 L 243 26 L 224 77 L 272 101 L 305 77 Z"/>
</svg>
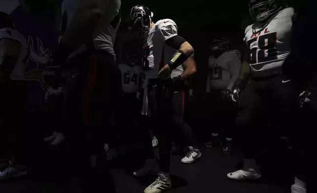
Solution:
<svg viewBox="0 0 317 193">
<path fill-rule="evenodd" d="M 236 129 L 242 137 L 245 159 L 254 158 L 261 128 L 268 123 L 281 128 L 288 136 L 292 129 L 298 129 L 299 94 L 296 83 L 284 79 L 283 75 L 251 80 L 241 93 L 236 118 Z"/>
</svg>

